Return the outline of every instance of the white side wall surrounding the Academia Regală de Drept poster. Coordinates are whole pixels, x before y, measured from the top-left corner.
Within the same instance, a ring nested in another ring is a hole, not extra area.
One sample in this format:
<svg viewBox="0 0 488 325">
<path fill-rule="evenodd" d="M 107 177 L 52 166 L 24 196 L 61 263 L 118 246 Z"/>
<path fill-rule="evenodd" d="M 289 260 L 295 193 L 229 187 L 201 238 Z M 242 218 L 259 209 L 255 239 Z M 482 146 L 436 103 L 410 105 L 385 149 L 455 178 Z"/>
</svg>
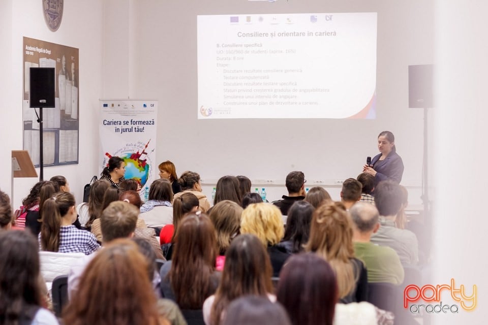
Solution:
<svg viewBox="0 0 488 325">
<path fill-rule="evenodd" d="M 102 4 L 98 0 L 65 1 L 62 23 L 56 32 L 52 32 L 44 22 L 42 2 L 37 0 L 1 2 L 0 16 L 6 16 L 3 17 L 5 19 L 1 19 L 2 26 L 5 24 L 5 29 L 2 28 L 1 31 L 2 44 L 5 34 L 6 48 L 8 49 L 9 45 L 12 47 L 12 51 L 9 52 L 4 51 L 2 45 L 0 53 L 2 61 L 0 64 L 6 64 L 6 70 L 11 71 L 0 81 L 5 86 L 1 87 L 2 97 L 8 99 L 9 103 L 2 107 L 2 121 L 3 123 L 8 121 L 8 125 L 11 126 L 7 128 L 6 123 L 2 127 L 2 152 L 6 153 L 6 159 L 2 161 L 2 167 L 5 164 L 5 168 L 2 168 L 0 186 L 9 194 L 11 193 L 10 150 L 22 149 L 23 37 L 75 47 L 79 49 L 80 55 L 79 165 L 46 167 L 44 179 L 54 175 L 66 176 L 76 195 L 76 200 L 81 201 L 83 185 L 98 171 L 95 155 L 99 144 L 96 118 L 98 99 L 102 96 Z M 5 93 L 4 89 L 6 89 Z M 5 149 L 3 146 L 6 146 Z M 20 205 L 22 198 L 37 180 L 36 178 L 15 179 L 14 208 Z"/>
</svg>

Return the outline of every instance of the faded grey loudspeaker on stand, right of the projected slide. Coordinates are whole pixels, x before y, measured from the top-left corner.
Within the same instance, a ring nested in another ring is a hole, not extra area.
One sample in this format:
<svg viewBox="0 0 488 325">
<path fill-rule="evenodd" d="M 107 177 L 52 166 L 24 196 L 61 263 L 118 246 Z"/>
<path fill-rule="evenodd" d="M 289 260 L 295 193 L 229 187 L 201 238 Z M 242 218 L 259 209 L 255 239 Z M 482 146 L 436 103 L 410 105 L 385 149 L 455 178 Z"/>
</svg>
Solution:
<svg viewBox="0 0 488 325">
<path fill-rule="evenodd" d="M 434 66 L 408 66 L 408 107 L 434 107 Z"/>
</svg>

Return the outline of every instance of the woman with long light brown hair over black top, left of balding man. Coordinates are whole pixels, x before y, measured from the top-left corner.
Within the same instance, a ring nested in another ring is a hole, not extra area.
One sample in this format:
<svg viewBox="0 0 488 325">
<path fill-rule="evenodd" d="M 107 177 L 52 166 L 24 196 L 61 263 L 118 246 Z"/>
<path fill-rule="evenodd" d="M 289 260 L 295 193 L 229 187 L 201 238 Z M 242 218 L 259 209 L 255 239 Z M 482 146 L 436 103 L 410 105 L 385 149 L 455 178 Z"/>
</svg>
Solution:
<svg viewBox="0 0 488 325">
<path fill-rule="evenodd" d="M 315 252 L 329 262 L 337 276 L 342 303 L 367 299 L 368 279 L 364 265 L 354 257 L 352 220 L 344 205 L 329 202 L 312 216 L 306 251 Z"/>
</svg>

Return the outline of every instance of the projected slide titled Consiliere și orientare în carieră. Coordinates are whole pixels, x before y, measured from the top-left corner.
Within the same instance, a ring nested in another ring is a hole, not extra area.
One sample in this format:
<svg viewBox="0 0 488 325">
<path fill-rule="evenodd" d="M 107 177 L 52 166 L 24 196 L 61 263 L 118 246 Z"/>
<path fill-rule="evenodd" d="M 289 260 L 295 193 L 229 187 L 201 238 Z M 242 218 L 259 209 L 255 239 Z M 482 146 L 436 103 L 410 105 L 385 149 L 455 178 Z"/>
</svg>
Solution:
<svg viewBox="0 0 488 325">
<path fill-rule="evenodd" d="M 198 16 L 198 118 L 375 118 L 376 22 L 376 13 Z"/>
</svg>

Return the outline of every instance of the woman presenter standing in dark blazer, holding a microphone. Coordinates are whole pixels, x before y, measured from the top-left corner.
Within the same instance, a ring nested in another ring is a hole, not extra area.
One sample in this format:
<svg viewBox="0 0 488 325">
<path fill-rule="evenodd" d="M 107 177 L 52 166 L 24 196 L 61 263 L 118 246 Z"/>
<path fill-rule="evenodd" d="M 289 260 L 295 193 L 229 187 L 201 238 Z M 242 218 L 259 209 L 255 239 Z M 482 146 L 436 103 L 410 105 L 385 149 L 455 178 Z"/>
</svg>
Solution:
<svg viewBox="0 0 488 325">
<path fill-rule="evenodd" d="M 403 175 L 403 161 L 396 153 L 395 136 L 389 131 L 380 133 L 378 149 L 380 153 L 374 156 L 369 166 L 364 165 L 362 171 L 375 177 L 375 187 L 385 179 L 400 183 Z"/>
</svg>

